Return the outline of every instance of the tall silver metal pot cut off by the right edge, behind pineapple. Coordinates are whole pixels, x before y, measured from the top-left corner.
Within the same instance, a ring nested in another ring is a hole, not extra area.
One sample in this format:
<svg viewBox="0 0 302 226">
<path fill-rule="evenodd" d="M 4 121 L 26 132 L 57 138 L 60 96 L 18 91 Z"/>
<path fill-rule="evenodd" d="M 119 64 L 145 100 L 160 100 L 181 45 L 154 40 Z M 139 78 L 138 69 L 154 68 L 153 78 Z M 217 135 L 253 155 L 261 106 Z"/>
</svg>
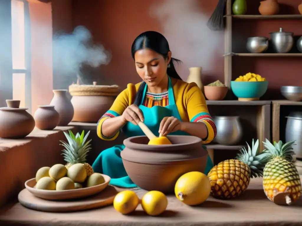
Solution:
<svg viewBox="0 0 302 226">
<path fill-rule="evenodd" d="M 293 145 L 293 151 L 296 153 L 295 158 L 302 158 L 302 112 L 291 112 L 286 116 L 287 122 L 285 127 L 285 142 L 296 141 Z"/>
</svg>

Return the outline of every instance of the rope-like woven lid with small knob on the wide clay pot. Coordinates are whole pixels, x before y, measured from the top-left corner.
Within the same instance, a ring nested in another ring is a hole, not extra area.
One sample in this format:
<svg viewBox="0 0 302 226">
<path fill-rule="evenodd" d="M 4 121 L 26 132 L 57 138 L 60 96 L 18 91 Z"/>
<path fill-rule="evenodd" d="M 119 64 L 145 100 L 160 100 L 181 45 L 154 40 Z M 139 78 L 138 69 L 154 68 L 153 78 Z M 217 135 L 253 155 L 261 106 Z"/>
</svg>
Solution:
<svg viewBox="0 0 302 226">
<path fill-rule="evenodd" d="M 71 96 L 117 96 L 120 92 L 120 86 L 102 86 L 93 82 L 93 85 L 72 84 L 69 86 Z"/>
</svg>

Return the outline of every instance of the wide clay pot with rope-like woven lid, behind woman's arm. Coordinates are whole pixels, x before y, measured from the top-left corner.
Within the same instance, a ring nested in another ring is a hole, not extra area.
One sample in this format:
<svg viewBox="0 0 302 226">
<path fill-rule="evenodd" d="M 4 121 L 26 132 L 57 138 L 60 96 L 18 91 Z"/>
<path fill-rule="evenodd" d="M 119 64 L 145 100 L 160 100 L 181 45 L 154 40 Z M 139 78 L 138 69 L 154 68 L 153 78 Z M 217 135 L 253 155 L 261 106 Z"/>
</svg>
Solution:
<svg viewBox="0 0 302 226">
<path fill-rule="evenodd" d="M 101 86 L 96 82 L 93 85 L 70 85 L 69 93 L 74 108 L 72 121 L 98 122 L 113 104 L 119 90 L 117 85 Z"/>
</svg>

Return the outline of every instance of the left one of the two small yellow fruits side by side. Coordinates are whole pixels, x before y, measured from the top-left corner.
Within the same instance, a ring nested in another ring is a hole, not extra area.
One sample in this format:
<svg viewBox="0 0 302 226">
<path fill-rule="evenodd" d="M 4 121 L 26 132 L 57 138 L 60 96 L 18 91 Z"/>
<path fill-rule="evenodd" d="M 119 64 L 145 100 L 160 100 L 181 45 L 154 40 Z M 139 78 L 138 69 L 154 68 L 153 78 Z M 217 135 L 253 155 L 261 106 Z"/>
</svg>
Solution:
<svg viewBox="0 0 302 226">
<path fill-rule="evenodd" d="M 113 207 L 121 214 L 128 214 L 137 208 L 139 202 L 140 199 L 135 192 L 129 190 L 122 191 L 114 197 Z"/>
</svg>

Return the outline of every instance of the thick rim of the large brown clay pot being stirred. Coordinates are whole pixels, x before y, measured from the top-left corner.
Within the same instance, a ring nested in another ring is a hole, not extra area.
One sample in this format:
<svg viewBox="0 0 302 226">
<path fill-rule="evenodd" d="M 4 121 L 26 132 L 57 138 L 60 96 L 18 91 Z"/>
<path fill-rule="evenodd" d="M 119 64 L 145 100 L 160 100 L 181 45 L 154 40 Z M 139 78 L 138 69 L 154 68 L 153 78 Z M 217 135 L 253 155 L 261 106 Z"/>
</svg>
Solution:
<svg viewBox="0 0 302 226">
<path fill-rule="evenodd" d="M 202 139 L 199 137 L 195 137 L 195 136 L 186 136 L 186 135 L 168 135 L 167 138 L 171 138 L 171 137 L 190 137 L 193 141 L 190 143 L 181 143 L 181 144 L 166 144 L 166 145 L 148 145 L 148 144 L 139 144 L 139 143 L 134 143 L 131 142 L 131 140 L 133 139 L 137 139 L 140 137 L 146 137 L 146 136 L 136 136 L 136 137 L 129 137 L 127 139 L 124 140 L 124 145 L 127 148 L 130 149 L 136 149 L 136 150 L 146 150 L 146 151 L 165 151 L 168 152 L 169 149 L 170 150 L 183 150 L 183 149 L 188 149 L 190 148 L 190 146 L 201 146 L 201 142 Z"/>
</svg>

